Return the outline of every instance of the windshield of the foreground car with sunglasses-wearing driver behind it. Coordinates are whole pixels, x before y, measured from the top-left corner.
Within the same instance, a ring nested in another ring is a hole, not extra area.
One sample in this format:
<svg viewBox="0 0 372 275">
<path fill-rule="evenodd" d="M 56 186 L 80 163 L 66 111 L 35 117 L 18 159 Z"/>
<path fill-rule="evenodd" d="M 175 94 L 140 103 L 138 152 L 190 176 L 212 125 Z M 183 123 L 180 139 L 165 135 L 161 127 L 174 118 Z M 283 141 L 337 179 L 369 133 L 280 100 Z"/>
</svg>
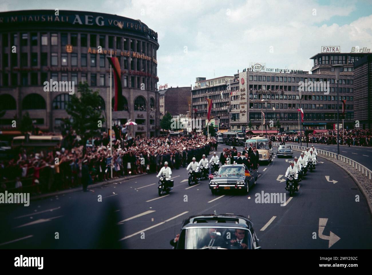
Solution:
<svg viewBox="0 0 372 275">
<path fill-rule="evenodd" d="M 253 249 L 247 229 L 189 228 L 186 229 L 185 249 Z"/>
</svg>

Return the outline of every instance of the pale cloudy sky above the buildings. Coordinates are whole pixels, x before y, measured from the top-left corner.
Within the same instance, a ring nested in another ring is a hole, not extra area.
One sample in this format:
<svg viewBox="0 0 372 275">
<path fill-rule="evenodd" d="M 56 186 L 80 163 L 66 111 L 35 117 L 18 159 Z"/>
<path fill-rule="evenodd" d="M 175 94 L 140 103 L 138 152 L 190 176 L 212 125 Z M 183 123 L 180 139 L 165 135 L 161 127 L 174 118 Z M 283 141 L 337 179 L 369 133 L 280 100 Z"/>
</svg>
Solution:
<svg viewBox="0 0 372 275">
<path fill-rule="evenodd" d="M 60 9 L 140 19 L 158 33 L 159 84 L 233 75 L 250 62 L 310 70 L 321 46 L 372 49 L 371 0 L 0 0 L 0 11 Z"/>
</svg>

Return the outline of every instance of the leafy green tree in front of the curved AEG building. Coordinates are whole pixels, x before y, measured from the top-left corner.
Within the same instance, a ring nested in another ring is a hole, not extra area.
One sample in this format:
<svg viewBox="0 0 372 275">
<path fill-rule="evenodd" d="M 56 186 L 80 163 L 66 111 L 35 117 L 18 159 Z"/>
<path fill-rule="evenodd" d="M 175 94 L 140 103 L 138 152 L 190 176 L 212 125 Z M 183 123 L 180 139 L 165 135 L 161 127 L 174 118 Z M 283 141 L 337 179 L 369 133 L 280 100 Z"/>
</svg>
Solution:
<svg viewBox="0 0 372 275">
<path fill-rule="evenodd" d="M 77 94 L 80 94 L 80 97 Z M 80 82 L 77 93 L 71 96 L 71 101 L 67 104 L 66 112 L 72 120 L 65 118 L 64 123 L 71 125 L 76 134 L 81 137 L 83 144 L 86 144 L 90 137 L 100 133 L 99 125 L 105 122 L 100 110 L 101 103 L 98 91 L 93 92 L 89 89 L 88 83 Z"/>
</svg>

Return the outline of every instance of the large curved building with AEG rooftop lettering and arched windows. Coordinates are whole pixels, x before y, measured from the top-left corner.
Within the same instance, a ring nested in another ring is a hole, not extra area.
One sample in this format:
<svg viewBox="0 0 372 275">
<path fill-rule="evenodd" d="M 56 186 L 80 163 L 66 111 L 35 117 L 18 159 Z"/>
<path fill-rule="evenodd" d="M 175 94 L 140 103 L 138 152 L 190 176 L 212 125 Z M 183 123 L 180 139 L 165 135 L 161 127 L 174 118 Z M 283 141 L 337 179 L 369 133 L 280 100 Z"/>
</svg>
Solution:
<svg viewBox="0 0 372 275">
<path fill-rule="evenodd" d="M 0 127 L 10 128 L 13 117 L 28 112 L 40 129 L 58 132 L 71 95 L 44 92 L 44 82 L 50 79 L 86 81 L 99 91 L 108 121 L 107 57 L 112 54 L 121 66 L 124 96 L 122 111 L 112 113 L 114 123 L 131 119 L 138 124 L 130 126 L 132 135 L 156 136 L 158 48 L 157 33 L 140 20 L 67 10 L 0 13 L 0 109 L 6 110 Z"/>
</svg>

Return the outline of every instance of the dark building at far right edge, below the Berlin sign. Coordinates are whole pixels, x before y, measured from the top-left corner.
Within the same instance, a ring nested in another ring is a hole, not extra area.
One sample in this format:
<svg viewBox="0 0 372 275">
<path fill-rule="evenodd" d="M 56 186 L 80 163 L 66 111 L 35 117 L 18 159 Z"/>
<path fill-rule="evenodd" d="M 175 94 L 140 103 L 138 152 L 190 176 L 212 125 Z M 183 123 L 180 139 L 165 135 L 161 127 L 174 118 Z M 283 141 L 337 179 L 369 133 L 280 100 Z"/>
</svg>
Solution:
<svg viewBox="0 0 372 275">
<path fill-rule="evenodd" d="M 372 124 L 372 55 L 354 63 L 354 120 L 362 129 Z"/>
</svg>

